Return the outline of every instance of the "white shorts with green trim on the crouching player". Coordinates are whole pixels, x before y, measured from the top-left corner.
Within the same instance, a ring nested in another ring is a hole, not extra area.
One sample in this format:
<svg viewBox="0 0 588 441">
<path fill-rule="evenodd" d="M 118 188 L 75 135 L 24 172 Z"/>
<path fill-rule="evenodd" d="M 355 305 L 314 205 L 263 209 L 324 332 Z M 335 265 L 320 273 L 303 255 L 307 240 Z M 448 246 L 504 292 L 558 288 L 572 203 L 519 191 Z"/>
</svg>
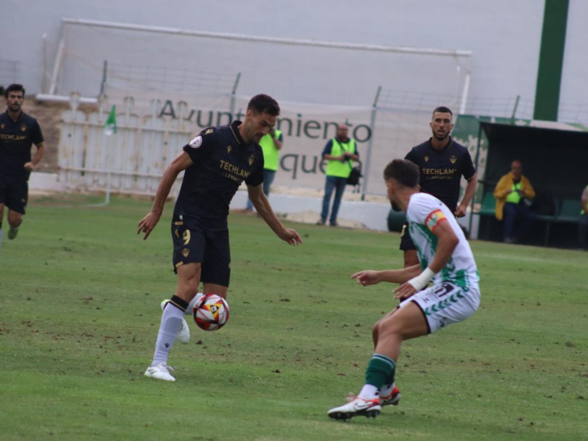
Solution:
<svg viewBox="0 0 588 441">
<path fill-rule="evenodd" d="M 480 305 L 480 291 L 442 282 L 417 292 L 400 303 L 400 308 L 410 302 L 420 308 L 427 320 L 429 333 L 433 333 L 451 323 L 462 322 L 476 312 Z"/>
</svg>

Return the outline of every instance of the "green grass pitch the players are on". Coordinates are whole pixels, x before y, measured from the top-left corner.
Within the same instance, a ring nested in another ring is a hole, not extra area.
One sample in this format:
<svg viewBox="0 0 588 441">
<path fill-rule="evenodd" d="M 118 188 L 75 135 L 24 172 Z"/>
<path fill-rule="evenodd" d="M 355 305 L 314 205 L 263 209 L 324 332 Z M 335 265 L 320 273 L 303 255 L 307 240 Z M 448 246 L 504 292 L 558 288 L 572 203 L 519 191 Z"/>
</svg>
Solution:
<svg viewBox="0 0 588 441">
<path fill-rule="evenodd" d="M 191 325 L 169 363 L 143 377 L 172 295 L 171 206 L 143 242 L 151 203 L 37 198 L 0 259 L 0 439 L 588 439 L 588 254 L 472 242 L 482 304 L 466 322 L 411 340 L 400 405 L 376 419 L 330 420 L 358 392 L 372 323 L 393 285 L 395 233 L 292 224 L 302 246 L 259 218 L 230 215 L 231 318 Z"/>
</svg>

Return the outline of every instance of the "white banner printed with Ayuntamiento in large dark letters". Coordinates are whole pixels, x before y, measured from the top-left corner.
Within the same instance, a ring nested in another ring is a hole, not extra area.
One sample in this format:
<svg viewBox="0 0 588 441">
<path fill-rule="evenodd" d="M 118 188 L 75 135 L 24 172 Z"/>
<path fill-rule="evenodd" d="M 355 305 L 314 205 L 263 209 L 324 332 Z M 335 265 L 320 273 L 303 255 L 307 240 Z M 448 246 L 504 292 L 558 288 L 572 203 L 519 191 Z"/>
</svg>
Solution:
<svg viewBox="0 0 588 441">
<path fill-rule="evenodd" d="M 128 90 L 109 86 L 109 105 L 123 109 Z M 171 153 L 179 153 L 185 143 L 208 126 L 229 124 L 242 120 L 250 97 L 230 95 L 180 95 L 178 93 L 135 91 L 132 113 L 151 115 L 178 123 L 185 132 L 178 145 L 169 145 Z M 282 131 L 283 148 L 279 169 L 274 181 L 278 186 L 322 189 L 325 183 L 326 162 L 322 151 L 329 139 L 335 136 L 339 123 L 349 126 L 349 135 L 358 146 L 360 165 L 364 175 L 362 193 L 385 194 L 382 171 L 389 161 L 403 158 L 412 146 L 430 136 L 430 115 L 423 112 L 382 111 L 369 107 L 312 105 L 308 103 L 279 102 L 280 116 L 277 128 Z M 373 124 L 372 124 L 373 123 Z M 148 141 L 142 137 L 142 142 Z M 140 151 L 156 151 L 153 146 L 142 145 Z M 166 155 L 173 158 L 175 155 Z M 352 188 L 348 188 L 351 191 Z"/>
</svg>

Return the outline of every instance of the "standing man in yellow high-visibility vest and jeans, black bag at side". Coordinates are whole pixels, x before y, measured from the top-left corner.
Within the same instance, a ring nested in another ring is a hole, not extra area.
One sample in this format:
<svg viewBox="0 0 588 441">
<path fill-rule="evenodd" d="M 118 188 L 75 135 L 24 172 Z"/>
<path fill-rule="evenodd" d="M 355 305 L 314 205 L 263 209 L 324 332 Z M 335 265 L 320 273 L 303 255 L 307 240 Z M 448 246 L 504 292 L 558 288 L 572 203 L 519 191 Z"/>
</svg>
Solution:
<svg viewBox="0 0 588 441">
<path fill-rule="evenodd" d="M 337 213 L 343 198 L 347 178 L 353 168 L 352 161 L 359 161 L 359 153 L 356 148 L 355 139 L 348 137 L 349 128 L 345 124 L 339 124 L 335 138 L 329 139 L 323 149 L 323 160 L 327 162 L 325 171 L 325 197 L 323 208 L 320 213 L 318 225 L 325 225 L 329 215 L 330 199 L 335 190 L 335 199 L 330 212 L 329 225 L 337 226 Z"/>
</svg>

